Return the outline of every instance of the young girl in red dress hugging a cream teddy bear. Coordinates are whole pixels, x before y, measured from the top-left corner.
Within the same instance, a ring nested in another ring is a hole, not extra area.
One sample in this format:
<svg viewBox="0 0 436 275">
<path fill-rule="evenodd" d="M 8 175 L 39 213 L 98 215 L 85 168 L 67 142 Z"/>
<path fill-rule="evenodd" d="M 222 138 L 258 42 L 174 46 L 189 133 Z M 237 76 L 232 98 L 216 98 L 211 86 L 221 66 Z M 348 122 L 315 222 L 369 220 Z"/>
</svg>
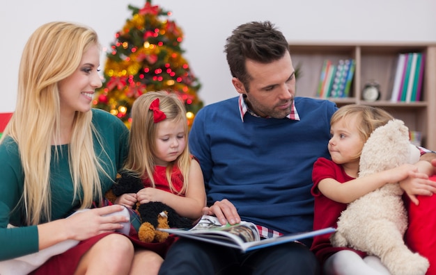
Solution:
<svg viewBox="0 0 436 275">
<path fill-rule="evenodd" d="M 314 229 L 336 227 L 348 203 L 389 182 L 401 181 L 412 205 L 418 203 L 416 195 L 436 192 L 436 183 L 428 179 L 434 168 L 425 160 L 416 163 L 419 171 L 415 165 L 405 164 L 358 178 L 364 143 L 375 128 L 391 119 L 394 117 L 380 108 L 357 105 L 344 106 L 332 116 L 328 144 L 332 160 L 319 158 L 313 165 Z M 389 274 L 380 258 L 348 247 L 332 247 L 329 235 L 315 237 L 311 249 L 320 260 L 323 274 Z"/>
</svg>

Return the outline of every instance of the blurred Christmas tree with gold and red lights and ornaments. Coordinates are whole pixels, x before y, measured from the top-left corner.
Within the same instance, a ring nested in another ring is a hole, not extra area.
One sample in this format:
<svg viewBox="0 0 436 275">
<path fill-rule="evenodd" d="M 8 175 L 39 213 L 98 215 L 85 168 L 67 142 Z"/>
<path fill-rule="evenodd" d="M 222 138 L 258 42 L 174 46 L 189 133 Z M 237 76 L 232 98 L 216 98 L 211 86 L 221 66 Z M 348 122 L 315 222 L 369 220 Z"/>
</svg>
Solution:
<svg viewBox="0 0 436 275">
<path fill-rule="evenodd" d="M 132 18 L 115 35 L 107 51 L 103 86 L 93 101 L 130 126 L 130 109 L 135 99 L 148 91 L 175 92 L 185 103 L 189 125 L 203 101 L 201 84 L 182 57 L 182 30 L 167 17 L 171 12 L 147 0 L 143 8 L 129 5 Z"/>
</svg>

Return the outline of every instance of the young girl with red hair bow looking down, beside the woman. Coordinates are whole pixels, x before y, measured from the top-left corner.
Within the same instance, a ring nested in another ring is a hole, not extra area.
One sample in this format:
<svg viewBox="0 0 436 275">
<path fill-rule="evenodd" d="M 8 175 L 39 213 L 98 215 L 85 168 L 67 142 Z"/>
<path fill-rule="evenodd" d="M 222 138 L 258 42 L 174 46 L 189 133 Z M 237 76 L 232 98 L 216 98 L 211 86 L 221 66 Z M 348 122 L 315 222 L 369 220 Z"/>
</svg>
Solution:
<svg viewBox="0 0 436 275">
<path fill-rule="evenodd" d="M 143 180 L 137 193 L 123 194 L 116 203 L 160 201 L 194 222 L 205 207 L 200 165 L 189 153 L 186 110 L 176 94 L 147 92 L 132 106 L 129 152 L 124 170 Z"/>
</svg>

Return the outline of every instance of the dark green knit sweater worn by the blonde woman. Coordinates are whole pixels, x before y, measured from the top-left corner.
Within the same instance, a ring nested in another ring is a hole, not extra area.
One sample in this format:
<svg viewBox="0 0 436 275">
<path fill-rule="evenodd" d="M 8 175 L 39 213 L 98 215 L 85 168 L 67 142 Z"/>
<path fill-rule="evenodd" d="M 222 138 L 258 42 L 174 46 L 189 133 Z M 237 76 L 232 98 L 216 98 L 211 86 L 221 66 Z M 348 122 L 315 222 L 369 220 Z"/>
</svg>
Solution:
<svg viewBox="0 0 436 275">
<path fill-rule="evenodd" d="M 127 156 L 129 131 L 120 119 L 99 109 L 93 109 L 92 123 L 100 135 L 100 141 L 94 136 L 95 153 L 104 170 L 111 176 L 100 175 L 102 192 L 111 187 L 117 172 Z M 102 153 L 102 147 L 106 153 Z M 59 161 L 54 159 L 55 147 L 52 147 L 50 163 L 50 182 L 52 192 L 52 220 L 68 216 L 79 208 L 79 199 L 73 199 L 72 178 L 68 163 L 68 144 L 59 147 Z M 16 258 L 38 251 L 38 228 L 26 226 L 22 211 L 24 173 L 19 156 L 18 144 L 6 137 L 0 144 L 0 260 Z M 18 210 L 15 210 L 17 207 Z M 8 224 L 19 226 L 6 228 Z"/>
</svg>

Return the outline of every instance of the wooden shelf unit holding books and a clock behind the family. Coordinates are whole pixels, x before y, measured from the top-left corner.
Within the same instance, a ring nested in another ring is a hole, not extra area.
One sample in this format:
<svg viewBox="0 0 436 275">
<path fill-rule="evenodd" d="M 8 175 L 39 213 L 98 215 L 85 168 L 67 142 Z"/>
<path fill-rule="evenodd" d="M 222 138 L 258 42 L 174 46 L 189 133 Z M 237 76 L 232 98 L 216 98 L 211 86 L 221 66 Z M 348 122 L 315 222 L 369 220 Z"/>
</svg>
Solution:
<svg viewBox="0 0 436 275">
<path fill-rule="evenodd" d="M 410 130 L 420 131 L 423 136 L 423 147 L 436 151 L 436 43 L 290 42 L 289 47 L 293 65 L 295 68 L 299 67 L 297 96 L 316 96 L 325 59 L 338 63 L 338 60 L 353 58 L 356 67 L 350 97 L 329 100 L 336 102 L 338 106 L 365 104 L 383 108 L 394 117 L 402 119 Z M 412 51 L 426 53 L 421 101 L 391 102 L 389 99 L 394 85 L 398 54 Z M 379 101 L 361 99 L 361 90 L 370 81 L 380 84 Z"/>
</svg>

